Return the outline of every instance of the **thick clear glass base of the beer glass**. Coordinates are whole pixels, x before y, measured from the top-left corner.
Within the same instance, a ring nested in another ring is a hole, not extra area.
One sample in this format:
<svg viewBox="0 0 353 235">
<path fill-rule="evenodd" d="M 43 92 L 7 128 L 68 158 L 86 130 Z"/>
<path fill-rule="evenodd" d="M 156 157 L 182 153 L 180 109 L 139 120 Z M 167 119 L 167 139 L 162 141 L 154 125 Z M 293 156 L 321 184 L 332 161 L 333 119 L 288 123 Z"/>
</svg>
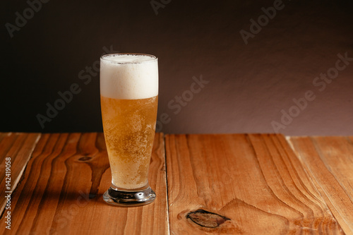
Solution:
<svg viewBox="0 0 353 235">
<path fill-rule="evenodd" d="M 122 191 L 112 186 L 103 194 L 103 199 L 112 205 L 121 207 L 136 207 L 139 205 L 147 205 L 155 200 L 155 192 L 148 186 L 143 190 Z"/>
</svg>

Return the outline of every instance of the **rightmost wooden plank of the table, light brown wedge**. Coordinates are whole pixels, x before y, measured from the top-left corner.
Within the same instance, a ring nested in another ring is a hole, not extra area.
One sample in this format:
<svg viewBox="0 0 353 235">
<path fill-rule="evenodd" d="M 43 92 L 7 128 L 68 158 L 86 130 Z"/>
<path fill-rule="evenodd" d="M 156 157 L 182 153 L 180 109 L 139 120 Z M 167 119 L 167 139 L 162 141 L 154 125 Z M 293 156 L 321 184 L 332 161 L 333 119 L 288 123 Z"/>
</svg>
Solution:
<svg viewBox="0 0 353 235">
<path fill-rule="evenodd" d="M 288 140 L 343 231 L 353 234 L 353 137 Z"/>
</svg>

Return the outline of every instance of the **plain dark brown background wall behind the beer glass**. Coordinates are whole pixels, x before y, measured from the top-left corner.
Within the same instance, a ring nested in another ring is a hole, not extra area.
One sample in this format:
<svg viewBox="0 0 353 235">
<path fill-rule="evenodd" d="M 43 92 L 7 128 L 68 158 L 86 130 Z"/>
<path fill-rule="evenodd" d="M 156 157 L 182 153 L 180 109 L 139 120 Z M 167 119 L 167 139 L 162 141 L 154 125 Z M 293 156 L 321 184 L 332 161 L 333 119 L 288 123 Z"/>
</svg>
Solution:
<svg viewBox="0 0 353 235">
<path fill-rule="evenodd" d="M 1 1 L 0 131 L 102 131 L 99 75 L 85 85 L 78 73 L 112 46 L 158 56 L 164 133 L 274 132 L 281 110 L 311 90 L 316 99 L 280 132 L 353 134 L 353 61 L 322 92 L 313 86 L 337 54 L 353 57 L 349 1 L 285 0 L 247 45 L 239 31 L 274 1 L 163 2 L 156 15 L 150 1 L 51 0 L 11 38 L 5 23 L 15 24 L 28 3 Z M 174 114 L 168 103 L 190 90 L 193 76 L 209 83 Z M 73 83 L 81 92 L 42 128 L 36 115 Z"/>
</svg>

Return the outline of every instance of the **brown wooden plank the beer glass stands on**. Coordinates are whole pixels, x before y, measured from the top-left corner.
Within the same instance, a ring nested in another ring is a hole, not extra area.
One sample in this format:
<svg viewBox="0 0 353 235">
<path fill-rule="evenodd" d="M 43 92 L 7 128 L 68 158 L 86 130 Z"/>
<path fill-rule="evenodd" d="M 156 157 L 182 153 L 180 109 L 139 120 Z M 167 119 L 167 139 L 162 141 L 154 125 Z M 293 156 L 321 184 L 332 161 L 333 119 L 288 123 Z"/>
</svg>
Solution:
<svg viewBox="0 0 353 235">
<path fill-rule="evenodd" d="M 169 233 L 162 134 L 155 136 L 149 172 L 157 198 L 143 207 L 102 199 L 111 181 L 102 133 L 43 134 L 32 155 L 11 200 L 12 234 Z"/>
</svg>

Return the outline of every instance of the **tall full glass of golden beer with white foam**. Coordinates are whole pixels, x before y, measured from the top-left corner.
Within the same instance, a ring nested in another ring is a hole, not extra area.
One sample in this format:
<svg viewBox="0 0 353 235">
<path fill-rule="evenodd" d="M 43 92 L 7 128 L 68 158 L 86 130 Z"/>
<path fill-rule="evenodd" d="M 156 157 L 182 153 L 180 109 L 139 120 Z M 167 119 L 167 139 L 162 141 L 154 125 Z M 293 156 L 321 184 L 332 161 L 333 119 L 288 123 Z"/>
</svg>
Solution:
<svg viewBox="0 0 353 235">
<path fill-rule="evenodd" d="M 113 205 L 152 203 L 148 184 L 158 102 L 157 57 L 107 54 L 100 58 L 100 102 L 112 184 L 103 199 Z"/>
</svg>

